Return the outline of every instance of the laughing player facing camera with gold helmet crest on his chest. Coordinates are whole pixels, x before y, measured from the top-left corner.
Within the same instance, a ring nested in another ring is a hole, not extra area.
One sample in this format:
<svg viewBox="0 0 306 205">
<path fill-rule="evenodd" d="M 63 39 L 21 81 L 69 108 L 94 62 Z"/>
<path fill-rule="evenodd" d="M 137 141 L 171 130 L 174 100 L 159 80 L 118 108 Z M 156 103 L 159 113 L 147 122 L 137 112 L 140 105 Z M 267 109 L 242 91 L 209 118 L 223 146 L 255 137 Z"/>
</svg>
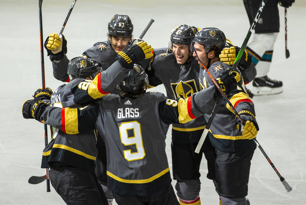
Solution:
<svg viewBox="0 0 306 205">
<path fill-rule="evenodd" d="M 173 53 L 164 53 L 155 56 L 148 71 L 150 86 L 163 84 L 169 99 L 187 99 L 200 91 L 198 61 L 190 52 L 191 38 L 198 31 L 196 27 L 181 25 L 171 33 L 169 49 Z M 231 45 L 232 46 L 232 45 Z M 230 46 L 229 46 L 230 47 Z M 235 48 L 231 47 L 223 52 L 222 60 L 232 63 L 236 59 Z M 251 63 L 241 59 L 240 67 L 244 68 L 245 81 L 254 79 L 256 69 Z M 200 204 L 200 163 L 204 153 L 207 159 L 207 178 L 214 180 L 214 151 L 207 138 L 200 154 L 194 152 L 206 121 L 203 116 L 185 124 L 172 125 L 172 167 L 173 178 L 177 181 L 175 188 L 180 204 Z"/>
</svg>

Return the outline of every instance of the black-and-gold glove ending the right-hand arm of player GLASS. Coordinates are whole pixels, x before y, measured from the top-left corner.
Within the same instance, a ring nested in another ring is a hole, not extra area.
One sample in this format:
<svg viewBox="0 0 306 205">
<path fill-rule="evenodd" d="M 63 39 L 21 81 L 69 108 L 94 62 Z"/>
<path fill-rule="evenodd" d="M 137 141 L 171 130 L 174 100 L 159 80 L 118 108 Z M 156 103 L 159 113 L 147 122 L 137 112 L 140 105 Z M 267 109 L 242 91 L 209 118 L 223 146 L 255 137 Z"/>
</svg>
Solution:
<svg viewBox="0 0 306 205">
<path fill-rule="evenodd" d="M 237 83 L 240 81 L 240 74 L 236 71 L 232 71 L 230 68 L 225 72 L 220 73 L 215 80 L 222 91 L 227 95 L 237 90 Z M 217 89 L 216 86 L 215 88 Z"/>
</svg>

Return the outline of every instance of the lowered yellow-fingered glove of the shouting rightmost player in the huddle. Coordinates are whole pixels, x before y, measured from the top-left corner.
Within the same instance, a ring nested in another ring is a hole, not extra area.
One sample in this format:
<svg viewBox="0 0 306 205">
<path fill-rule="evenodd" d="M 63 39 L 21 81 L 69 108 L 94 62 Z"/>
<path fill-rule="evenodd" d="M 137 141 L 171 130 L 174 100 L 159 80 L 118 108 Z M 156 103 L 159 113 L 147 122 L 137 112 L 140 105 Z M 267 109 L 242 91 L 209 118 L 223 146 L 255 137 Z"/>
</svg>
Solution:
<svg viewBox="0 0 306 205">
<path fill-rule="evenodd" d="M 242 126 L 240 120 L 236 117 L 236 126 L 237 129 L 242 132 L 242 136 L 249 140 L 256 137 L 259 127 L 255 116 L 247 110 L 240 111 L 238 114 L 240 114 L 240 117 L 245 122 L 245 125 Z"/>
</svg>

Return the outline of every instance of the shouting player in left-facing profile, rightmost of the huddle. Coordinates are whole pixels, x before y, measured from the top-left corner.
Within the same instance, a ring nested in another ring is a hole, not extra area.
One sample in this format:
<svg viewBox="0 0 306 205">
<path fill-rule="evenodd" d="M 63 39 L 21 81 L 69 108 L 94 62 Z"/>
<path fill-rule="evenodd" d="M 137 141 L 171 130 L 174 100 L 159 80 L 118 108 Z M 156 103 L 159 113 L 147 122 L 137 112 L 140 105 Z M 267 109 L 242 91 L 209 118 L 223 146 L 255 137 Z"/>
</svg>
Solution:
<svg viewBox="0 0 306 205">
<path fill-rule="evenodd" d="M 226 37 L 217 28 L 203 28 L 195 35 L 196 52 L 193 52 L 193 56 L 202 68 L 199 79 L 200 86 L 204 90 L 215 85 L 203 65 L 213 77 L 231 69 L 230 65 L 222 63 L 219 59 L 220 51 L 225 44 Z M 239 70 L 237 72 L 240 73 Z M 255 119 L 254 104 L 245 93 L 242 80 L 233 92 L 227 93 L 227 97 L 246 124 L 241 125 L 227 101 L 222 99 L 208 132 L 211 144 L 215 148 L 217 190 L 223 205 L 246 205 L 249 204 L 246 196 L 251 159 L 256 148 L 256 144 L 250 139 L 256 137 L 259 128 Z M 204 114 L 207 121 L 210 114 Z"/>
</svg>

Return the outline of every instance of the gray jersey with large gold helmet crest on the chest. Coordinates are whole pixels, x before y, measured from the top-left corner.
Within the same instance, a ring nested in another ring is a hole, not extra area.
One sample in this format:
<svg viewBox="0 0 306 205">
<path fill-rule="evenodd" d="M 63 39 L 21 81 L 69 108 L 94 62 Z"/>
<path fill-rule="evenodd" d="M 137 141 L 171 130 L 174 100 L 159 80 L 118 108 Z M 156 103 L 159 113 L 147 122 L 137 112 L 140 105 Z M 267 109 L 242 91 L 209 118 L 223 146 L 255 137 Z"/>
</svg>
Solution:
<svg viewBox="0 0 306 205">
<path fill-rule="evenodd" d="M 148 71 L 150 85 L 156 86 L 163 84 L 168 98 L 187 99 L 194 93 L 200 91 L 199 86 L 200 66 L 198 61 L 192 57 L 192 60 L 184 65 L 176 63 L 174 54 L 163 53 L 155 56 L 151 63 L 151 70 Z M 206 121 L 203 116 L 198 117 L 185 124 L 173 124 L 172 128 L 176 131 L 188 132 L 201 130 L 206 127 Z M 180 135 L 174 135 L 173 138 L 181 138 Z M 176 139 L 188 143 L 196 143 L 200 135 L 188 135 L 189 139 Z M 185 135 L 184 135 L 185 138 Z"/>
</svg>

